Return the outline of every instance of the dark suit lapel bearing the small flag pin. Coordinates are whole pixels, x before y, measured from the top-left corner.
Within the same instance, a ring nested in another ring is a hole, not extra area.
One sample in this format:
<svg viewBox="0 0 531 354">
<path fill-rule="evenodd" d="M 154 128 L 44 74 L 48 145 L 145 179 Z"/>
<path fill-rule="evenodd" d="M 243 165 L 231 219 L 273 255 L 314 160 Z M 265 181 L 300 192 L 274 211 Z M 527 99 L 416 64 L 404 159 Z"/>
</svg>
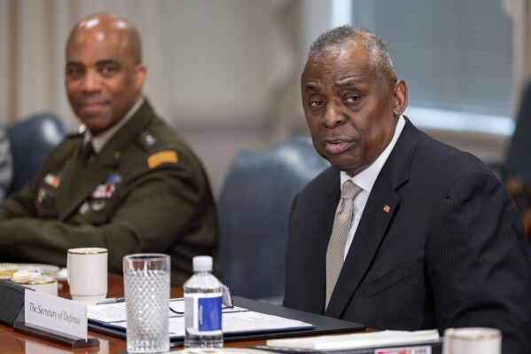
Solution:
<svg viewBox="0 0 531 354">
<path fill-rule="evenodd" d="M 410 160 L 419 138 L 418 130 L 405 119 L 402 134 L 372 186 L 371 195 L 325 311 L 326 316 L 340 318 L 345 311 L 369 270 L 399 205 L 400 195 L 396 190 L 409 180 Z"/>
</svg>

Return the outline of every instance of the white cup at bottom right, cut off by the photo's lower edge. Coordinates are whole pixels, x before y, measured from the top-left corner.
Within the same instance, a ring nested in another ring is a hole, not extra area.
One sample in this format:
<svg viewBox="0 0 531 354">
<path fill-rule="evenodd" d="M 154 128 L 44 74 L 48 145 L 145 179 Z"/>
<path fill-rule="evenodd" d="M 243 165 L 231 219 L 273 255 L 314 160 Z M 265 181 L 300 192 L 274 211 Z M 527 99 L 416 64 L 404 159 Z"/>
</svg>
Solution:
<svg viewBox="0 0 531 354">
<path fill-rule="evenodd" d="M 485 327 L 448 328 L 444 331 L 442 354 L 500 354 L 502 333 Z"/>
</svg>

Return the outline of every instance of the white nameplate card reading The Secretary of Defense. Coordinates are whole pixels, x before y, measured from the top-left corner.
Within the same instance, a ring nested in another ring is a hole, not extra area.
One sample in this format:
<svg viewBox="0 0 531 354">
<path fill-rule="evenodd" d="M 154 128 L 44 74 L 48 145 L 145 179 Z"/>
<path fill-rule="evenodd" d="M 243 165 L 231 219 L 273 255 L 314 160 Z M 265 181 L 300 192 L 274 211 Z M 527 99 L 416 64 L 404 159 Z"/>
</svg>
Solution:
<svg viewBox="0 0 531 354">
<path fill-rule="evenodd" d="M 58 296 L 26 290 L 26 324 L 52 328 L 54 331 L 87 341 L 87 305 Z"/>
</svg>

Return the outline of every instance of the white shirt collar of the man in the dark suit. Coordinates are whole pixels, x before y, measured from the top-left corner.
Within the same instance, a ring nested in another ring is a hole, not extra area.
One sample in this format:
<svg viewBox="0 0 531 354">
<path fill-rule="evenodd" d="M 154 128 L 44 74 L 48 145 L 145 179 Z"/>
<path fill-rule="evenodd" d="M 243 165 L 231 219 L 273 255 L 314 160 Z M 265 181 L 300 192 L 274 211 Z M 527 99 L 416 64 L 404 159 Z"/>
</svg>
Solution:
<svg viewBox="0 0 531 354">
<path fill-rule="evenodd" d="M 382 169 L 382 167 L 384 167 L 387 158 L 393 151 L 393 148 L 396 145 L 396 141 L 398 140 L 398 137 L 400 137 L 400 134 L 402 133 L 405 124 L 405 119 L 402 115 L 400 115 L 400 117 L 398 118 L 398 122 L 396 123 L 396 127 L 394 128 L 393 139 L 391 139 L 391 142 L 386 147 L 386 149 L 379 154 L 379 157 L 374 162 L 371 163 L 371 166 L 369 166 L 367 169 L 363 169 L 363 171 L 355 175 L 355 177 L 350 177 L 347 175 L 347 172 L 341 171 L 341 185 L 343 185 L 343 183 L 347 181 L 347 179 L 351 179 L 352 182 L 354 182 L 356 185 L 359 185 L 363 189 L 363 191 L 371 193 L 372 185 L 374 185 L 374 183 L 376 182 L 376 178 L 378 178 L 379 171 Z"/>
</svg>

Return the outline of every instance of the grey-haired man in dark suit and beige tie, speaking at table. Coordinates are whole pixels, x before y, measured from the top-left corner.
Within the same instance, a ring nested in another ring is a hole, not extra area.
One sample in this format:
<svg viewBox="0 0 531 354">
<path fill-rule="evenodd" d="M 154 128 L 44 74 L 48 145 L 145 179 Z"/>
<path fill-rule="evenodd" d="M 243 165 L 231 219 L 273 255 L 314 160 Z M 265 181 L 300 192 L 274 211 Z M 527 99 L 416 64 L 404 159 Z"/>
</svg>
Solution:
<svg viewBox="0 0 531 354">
<path fill-rule="evenodd" d="M 332 167 L 293 201 L 285 306 L 377 329 L 495 327 L 505 353 L 531 352 L 518 211 L 481 161 L 402 115 L 406 84 L 381 38 L 349 27 L 321 35 L 301 91 Z"/>
</svg>

